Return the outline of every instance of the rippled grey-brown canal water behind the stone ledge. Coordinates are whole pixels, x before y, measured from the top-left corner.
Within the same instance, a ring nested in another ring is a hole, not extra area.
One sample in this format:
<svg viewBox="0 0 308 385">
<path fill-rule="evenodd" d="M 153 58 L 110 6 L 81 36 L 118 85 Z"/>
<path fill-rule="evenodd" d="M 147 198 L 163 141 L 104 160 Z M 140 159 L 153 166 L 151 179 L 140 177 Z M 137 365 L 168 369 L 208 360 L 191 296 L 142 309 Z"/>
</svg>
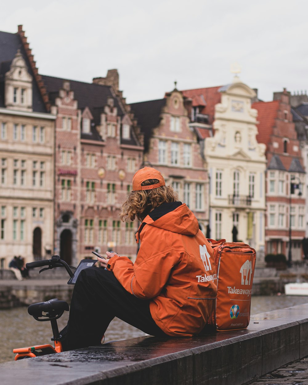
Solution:
<svg viewBox="0 0 308 385">
<path fill-rule="evenodd" d="M 303 303 L 308 303 L 308 297 L 285 295 L 253 296 L 251 297 L 251 314 L 283 309 Z M 65 312 L 58 320 L 59 330 L 66 325 L 67 319 L 68 312 Z M 125 340 L 144 335 L 146 334 L 142 331 L 115 318 L 105 333 L 105 342 Z M 0 310 L 0 362 L 12 361 L 14 359 L 13 348 L 48 344 L 51 343 L 50 337 L 50 322 L 35 321 L 28 315 L 27 307 Z"/>
</svg>

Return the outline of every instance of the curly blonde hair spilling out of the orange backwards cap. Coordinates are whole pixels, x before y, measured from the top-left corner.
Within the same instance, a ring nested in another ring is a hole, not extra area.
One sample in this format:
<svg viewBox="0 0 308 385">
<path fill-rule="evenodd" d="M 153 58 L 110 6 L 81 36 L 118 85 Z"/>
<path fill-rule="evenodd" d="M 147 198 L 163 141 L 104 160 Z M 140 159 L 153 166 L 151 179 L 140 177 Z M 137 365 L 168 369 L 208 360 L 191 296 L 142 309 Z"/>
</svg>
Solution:
<svg viewBox="0 0 308 385">
<path fill-rule="evenodd" d="M 141 183 L 141 186 L 149 186 L 158 183 L 157 179 L 148 179 Z M 177 193 L 171 186 L 161 186 L 150 190 L 131 191 L 122 204 L 120 219 L 133 221 L 136 217 L 143 221 L 147 214 L 162 203 L 179 201 Z"/>
</svg>

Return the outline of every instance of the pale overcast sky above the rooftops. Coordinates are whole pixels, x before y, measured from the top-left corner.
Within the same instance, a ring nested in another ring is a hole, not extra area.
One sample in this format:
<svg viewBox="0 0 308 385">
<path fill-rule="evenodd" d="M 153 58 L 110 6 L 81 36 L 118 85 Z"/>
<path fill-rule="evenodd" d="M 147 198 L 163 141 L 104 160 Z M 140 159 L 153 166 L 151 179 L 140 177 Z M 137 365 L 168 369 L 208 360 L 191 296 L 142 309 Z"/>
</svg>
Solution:
<svg viewBox="0 0 308 385">
<path fill-rule="evenodd" d="M 307 0 L 14 0 L 0 30 L 22 24 L 39 72 L 92 82 L 118 69 L 127 102 L 161 99 L 174 88 L 241 80 L 273 91 L 308 89 Z M 1 58 L 0 58 L 1 61 Z"/>
</svg>

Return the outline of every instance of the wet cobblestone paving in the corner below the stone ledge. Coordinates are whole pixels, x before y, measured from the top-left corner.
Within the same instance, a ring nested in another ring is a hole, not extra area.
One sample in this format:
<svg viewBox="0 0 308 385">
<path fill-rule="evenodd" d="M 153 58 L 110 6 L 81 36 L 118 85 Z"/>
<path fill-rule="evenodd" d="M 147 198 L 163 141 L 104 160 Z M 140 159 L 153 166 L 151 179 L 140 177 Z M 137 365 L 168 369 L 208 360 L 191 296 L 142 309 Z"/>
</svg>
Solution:
<svg viewBox="0 0 308 385">
<path fill-rule="evenodd" d="M 308 357 L 274 370 L 249 385 L 308 385 Z"/>
</svg>

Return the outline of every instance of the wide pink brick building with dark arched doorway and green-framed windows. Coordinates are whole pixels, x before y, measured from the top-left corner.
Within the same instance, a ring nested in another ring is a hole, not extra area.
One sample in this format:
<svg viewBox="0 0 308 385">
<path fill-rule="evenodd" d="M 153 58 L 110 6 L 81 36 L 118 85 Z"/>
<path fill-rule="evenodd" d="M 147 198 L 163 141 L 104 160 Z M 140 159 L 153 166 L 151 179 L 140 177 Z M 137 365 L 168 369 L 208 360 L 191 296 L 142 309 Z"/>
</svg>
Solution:
<svg viewBox="0 0 308 385">
<path fill-rule="evenodd" d="M 42 79 L 57 116 L 54 252 L 74 264 L 91 258 L 95 249 L 115 249 L 134 259 L 137 223 L 122 223 L 119 209 L 142 162 L 143 146 L 117 90 L 117 71 L 93 83 Z"/>
</svg>

